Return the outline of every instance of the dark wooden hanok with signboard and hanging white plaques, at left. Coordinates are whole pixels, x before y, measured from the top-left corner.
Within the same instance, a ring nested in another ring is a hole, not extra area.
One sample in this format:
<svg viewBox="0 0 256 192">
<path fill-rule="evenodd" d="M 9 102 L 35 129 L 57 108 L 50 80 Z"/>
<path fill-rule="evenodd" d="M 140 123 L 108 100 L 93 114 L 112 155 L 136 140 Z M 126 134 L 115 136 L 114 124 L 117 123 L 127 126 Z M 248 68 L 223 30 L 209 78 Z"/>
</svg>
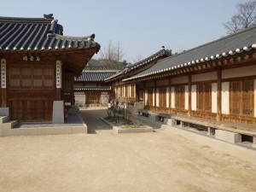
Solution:
<svg viewBox="0 0 256 192">
<path fill-rule="evenodd" d="M 63 36 L 52 15 L 0 17 L 0 106 L 10 119 L 49 121 L 54 101 L 74 104 L 74 76 L 100 49 L 94 38 Z"/>
</svg>

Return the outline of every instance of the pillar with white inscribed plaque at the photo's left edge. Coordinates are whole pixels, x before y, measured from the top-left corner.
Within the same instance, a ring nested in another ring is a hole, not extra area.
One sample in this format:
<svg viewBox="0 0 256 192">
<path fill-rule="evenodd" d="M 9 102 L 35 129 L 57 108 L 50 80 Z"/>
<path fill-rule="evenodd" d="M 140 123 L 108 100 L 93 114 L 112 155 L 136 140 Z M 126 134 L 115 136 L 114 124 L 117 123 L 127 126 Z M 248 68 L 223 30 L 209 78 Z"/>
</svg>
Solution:
<svg viewBox="0 0 256 192">
<path fill-rule="evenodd" d="M 1 107 L 7 107 L 7 90 L 6 90 L 6 60 L 1 60 Z"/>
</svg>

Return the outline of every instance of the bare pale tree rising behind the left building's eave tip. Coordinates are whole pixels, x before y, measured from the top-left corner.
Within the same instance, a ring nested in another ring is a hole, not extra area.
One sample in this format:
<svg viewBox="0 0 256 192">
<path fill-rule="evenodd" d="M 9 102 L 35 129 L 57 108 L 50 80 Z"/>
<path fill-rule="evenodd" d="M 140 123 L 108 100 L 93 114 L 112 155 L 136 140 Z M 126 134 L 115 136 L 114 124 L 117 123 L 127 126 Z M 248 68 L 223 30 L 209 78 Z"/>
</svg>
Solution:
<svg viewBox="0 0 256 192">
<path fill-rule="evenodd" d="M 121 61 L 121 59 L 124 56 L 124 51 L 123 49 L 120 48 L 120 43 L 118 42 L 117 45 L 114 45 L 112 41 L 108 41 L 108 46 L 107 48 L 104 48 L 101 51 L 100 54 L 100 60 L 107 60 L 107 61 Z"/>
</svg>

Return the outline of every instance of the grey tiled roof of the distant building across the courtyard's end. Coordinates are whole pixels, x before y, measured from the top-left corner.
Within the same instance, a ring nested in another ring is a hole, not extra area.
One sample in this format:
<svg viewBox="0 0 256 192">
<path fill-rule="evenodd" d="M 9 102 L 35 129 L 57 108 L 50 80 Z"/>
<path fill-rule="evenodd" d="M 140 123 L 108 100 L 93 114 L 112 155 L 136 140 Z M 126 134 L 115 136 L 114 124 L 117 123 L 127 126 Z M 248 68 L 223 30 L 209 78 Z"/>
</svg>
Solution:
<svg viewBox="0 0 256 192">
<path fill-rule="evenodd" d="M 115 72 L 83 72 L 75 81 L 104 81 Z"/>
</svg>

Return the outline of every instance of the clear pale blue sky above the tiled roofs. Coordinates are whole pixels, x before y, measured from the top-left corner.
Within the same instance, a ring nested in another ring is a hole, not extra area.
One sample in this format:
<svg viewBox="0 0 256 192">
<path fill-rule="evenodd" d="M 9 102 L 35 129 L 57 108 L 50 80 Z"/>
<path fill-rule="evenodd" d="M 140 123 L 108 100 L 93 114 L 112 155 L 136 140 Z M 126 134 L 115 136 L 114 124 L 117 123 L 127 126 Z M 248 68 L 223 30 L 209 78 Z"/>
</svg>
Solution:
<svg viewBox="0 0 256 192">
<path fill-rule="evenodd" d="M 96 34 L 102 49 L 120 43 L 125 60 L 134 62 L 162 45 L 173 52 L 224 37 L 223 23 L 247 0 L 0 0 L 1 16 L 54 14 L 64 35 Z M 99 55 L 99 54 L 98 54 Z M 97 57 L 97 56 L 96 56 Z"/>
</svg>

